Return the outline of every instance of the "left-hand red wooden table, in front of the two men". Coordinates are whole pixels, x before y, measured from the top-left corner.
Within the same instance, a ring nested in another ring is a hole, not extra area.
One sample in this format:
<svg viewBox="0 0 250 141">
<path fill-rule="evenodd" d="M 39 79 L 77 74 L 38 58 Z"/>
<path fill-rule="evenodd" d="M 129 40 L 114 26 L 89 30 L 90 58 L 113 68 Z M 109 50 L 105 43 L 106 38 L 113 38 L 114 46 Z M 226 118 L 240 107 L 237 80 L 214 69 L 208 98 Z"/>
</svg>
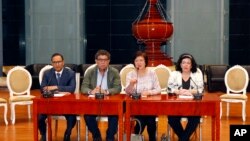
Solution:
<svg viewBox="0 0 250 141">
<path fill-rule="evenodd" d="M 37 94 L 39 95 L 39 94 Z M 62 114 L 93 114 L 93 115 L 117 115 L 118 116 L 118 136 L 122 141 L 123 134 L 123 103 L 125 95 L 105 96 L 98 100 L 84 94 L 66 94 L 61 97 L 43 98 L 37 96 L 33 99 L 33 127 L 34 140 L 38 140 L 38 115 L 62 115 Z M 48 118 L 50 119 L 50 118 Z M 49 137 L 51 140 L 51 125 L 49 120 Z"/>
</svg>

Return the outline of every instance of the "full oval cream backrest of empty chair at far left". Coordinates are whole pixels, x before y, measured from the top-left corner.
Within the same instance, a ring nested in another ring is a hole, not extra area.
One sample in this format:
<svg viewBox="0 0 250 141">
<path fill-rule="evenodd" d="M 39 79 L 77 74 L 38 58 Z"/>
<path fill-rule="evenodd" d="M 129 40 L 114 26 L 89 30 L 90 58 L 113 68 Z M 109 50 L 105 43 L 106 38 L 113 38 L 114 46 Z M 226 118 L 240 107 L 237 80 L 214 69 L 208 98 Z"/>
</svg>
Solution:
<svg viewBox="0 0 250 141">
<path fill-rule="evenodd" d="M 31 84 L 31 75 L 24 67 L 16 66 L 7 74 L 7 87 L 11 97 L 14 95 L 30 95 Z"/>
</svg>

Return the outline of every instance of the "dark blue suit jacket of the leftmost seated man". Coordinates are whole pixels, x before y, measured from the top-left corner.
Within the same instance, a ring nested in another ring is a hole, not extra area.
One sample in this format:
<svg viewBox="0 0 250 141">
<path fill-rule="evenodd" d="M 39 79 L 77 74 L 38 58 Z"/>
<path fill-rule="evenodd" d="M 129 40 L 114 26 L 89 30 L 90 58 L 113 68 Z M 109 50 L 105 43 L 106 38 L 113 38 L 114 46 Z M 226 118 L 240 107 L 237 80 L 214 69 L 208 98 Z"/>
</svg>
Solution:
<svg viewBox="0 0 250 141">
<path fill-rule="evenodd" d="M 55 85 L 58 86 L 58 91 L 60 92 L 73 93 L 76 87 L 75 72 L 68 68 L 64 68 L 61 75 L 60 83 L 57 84 L 55 69 L 52 68 L 50 70 L 45 71 L 41 83 L 41 90 L 45 86 L 55 86 Z"/>
</svg>

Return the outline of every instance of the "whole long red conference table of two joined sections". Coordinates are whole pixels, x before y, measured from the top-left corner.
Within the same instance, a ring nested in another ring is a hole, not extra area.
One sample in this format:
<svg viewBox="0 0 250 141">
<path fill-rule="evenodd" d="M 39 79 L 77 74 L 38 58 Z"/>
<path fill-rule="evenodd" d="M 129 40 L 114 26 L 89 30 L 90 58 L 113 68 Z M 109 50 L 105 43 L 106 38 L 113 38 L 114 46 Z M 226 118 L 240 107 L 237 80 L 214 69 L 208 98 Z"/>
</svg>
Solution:
<svg viewBox="0 0 250 141">
<path fill-rule="evenodd" d="M 62 97 L 33 99 L 34 140 L 38 140 L 38 115 L 94 114 L 117 115 L 118 138 L 123 140 L 123 115 L 125 112 L 126 140 L 130 140 L 130 118 L 135 115 L 183 115 L 211 116 L 212 140 L 220 140 L 220 99 L 217 95 L 205 94 L 202 100 L 182 99 L 169 95 L 154 95 L 134 100 L 128 95 L 105 96 L 98 100 L 84 94 L 66 94 Z M 49 123 L 50 123 L 50 118 Z M 49 140 L 51 140 L 49 124 Z M 167 128 L 167 127 L 166 127 Z"/>
</svg>

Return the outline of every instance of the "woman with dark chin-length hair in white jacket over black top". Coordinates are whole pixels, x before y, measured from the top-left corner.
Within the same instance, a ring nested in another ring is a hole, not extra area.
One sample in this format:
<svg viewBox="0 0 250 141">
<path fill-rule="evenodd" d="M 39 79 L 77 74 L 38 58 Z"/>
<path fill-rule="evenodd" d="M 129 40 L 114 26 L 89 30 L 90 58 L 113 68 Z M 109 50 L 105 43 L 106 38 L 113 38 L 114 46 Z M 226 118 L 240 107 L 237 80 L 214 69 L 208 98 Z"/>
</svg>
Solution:
<svg viewBox="0 0 250 141">
<path fill-rule="evenodd" d="M 197 71 L 197 64 L 191 54 L 180 55 L 176 71 L 168 79 L 169 93 L 177 95 L 192 95 L 203 91 L 203 76 Z M 188 141 L 200 122 L 200 116 L 187 116 L 188 123 L 184 129 L 181 124 L 182 116 L 168 116 L 168 123 L 179 137 L 179 141 Z"/>
</svg>

